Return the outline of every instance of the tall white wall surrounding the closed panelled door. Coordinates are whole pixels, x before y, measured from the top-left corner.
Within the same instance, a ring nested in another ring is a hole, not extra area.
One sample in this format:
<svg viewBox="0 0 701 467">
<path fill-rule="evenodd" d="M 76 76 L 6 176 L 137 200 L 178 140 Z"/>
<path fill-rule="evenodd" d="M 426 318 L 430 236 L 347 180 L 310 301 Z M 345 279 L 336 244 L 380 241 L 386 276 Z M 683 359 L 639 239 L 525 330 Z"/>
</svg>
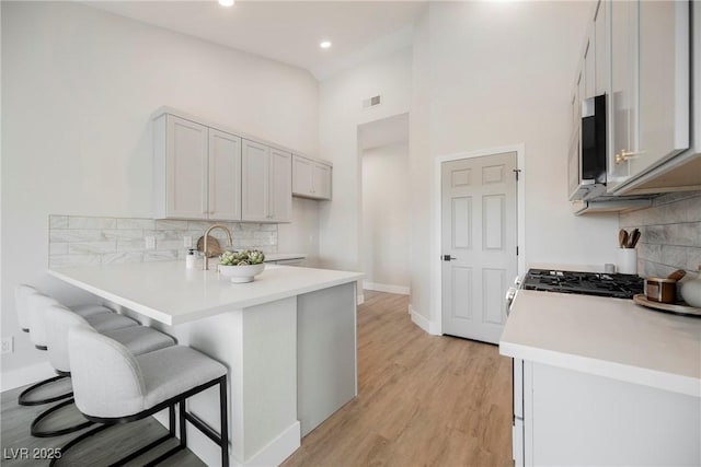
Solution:
<svg viewBox="0 0 701 467">
<path fill-rule="evenodd" d="M 576 218 L 566 197 L 568 98 L 591 2 L 436 2 L 415 28 L 412 256 L 436 241 L 434 159 L 524 143 L 526 262 L 616 259 L 616 215 Z M 426 117 L 428 116 L 428 117 Z M 428 119 L 428 121 L 427 121 Z M 412 265 L 412 307 L 436 319 Z"/>
</svg>

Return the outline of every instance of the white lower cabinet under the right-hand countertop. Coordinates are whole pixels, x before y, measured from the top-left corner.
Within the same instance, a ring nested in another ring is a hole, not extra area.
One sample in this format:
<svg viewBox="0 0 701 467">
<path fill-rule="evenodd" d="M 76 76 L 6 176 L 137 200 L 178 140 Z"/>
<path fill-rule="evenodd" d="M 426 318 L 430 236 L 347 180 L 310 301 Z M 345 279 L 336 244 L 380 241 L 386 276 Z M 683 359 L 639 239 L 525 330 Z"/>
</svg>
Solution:
<svg viewBox="0 0 701 467">
<path fill-rule="evenodd" d="M 522 369 L 517 466 L 701 465 L 701 397 L 528 361 Z"/>
</svg>

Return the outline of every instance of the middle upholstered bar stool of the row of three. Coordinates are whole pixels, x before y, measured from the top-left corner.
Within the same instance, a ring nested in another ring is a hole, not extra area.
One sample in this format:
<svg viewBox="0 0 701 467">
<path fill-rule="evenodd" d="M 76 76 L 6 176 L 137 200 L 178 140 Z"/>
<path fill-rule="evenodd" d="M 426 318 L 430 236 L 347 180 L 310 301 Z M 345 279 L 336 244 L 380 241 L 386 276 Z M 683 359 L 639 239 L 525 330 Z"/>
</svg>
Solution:
<svg viewBox="0 0 701 467">
<path fill-rule="evenodd" d="M 59 375 L 70 376 L 68 332 L 70 328 L 74 326 L 92 327 L 90 326 L 90 320 L 91 318 L 94 320 L 94 317 L 80 316 L 59 303 L 47 304 L 44 314 L 48 327 L 47 347 L 49 362 Z M 146 326 L 128 326 L 119 329 L 105 330 L 104 335 L 125 346 L 135 355 L 175 345 L 175 340 L 172 337 Z M 59 436 L 93 424 L 91 421 L 84 421 L 58 430 L 41 431 L 38 429 L 39 424 L 45 421 L 47 417 L 71 404 L 73 404 L 73 398 L 67 399 L 39 413 L 32 422 L 31 434 L 37 437 Z"/>
</svg>

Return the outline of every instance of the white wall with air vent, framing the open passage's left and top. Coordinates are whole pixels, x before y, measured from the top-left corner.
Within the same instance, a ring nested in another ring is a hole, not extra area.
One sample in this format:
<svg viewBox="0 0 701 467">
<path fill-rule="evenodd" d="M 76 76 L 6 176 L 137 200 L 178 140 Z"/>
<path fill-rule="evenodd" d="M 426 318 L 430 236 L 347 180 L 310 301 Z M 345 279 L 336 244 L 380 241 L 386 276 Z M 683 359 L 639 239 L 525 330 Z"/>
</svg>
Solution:
<svg viewBox="0 0 701 467">
<path fill-rule="evenodd" d="M 411 49 L 353 68 L 319 84 L 319 155 L 333 162 L 333 202 L 320 212 L 322 266 L 360 270 L 358 125 L 409 112 Z M 363 109 L 380 94 L 382 104 Z"/>
</svg>

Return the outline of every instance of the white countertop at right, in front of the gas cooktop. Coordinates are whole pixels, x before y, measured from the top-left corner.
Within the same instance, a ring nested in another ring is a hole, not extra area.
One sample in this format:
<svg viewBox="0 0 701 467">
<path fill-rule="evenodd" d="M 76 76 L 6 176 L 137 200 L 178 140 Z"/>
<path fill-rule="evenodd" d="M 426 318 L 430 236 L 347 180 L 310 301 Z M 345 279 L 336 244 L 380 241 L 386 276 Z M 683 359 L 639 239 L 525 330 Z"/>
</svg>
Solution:
<svg viewBox="0 0 701 467">
<path fill-rule="evenodd" d="M 631 300 L 519 290 L 499 352 L 701 397 L 701 319 Z"/>
</svg>

